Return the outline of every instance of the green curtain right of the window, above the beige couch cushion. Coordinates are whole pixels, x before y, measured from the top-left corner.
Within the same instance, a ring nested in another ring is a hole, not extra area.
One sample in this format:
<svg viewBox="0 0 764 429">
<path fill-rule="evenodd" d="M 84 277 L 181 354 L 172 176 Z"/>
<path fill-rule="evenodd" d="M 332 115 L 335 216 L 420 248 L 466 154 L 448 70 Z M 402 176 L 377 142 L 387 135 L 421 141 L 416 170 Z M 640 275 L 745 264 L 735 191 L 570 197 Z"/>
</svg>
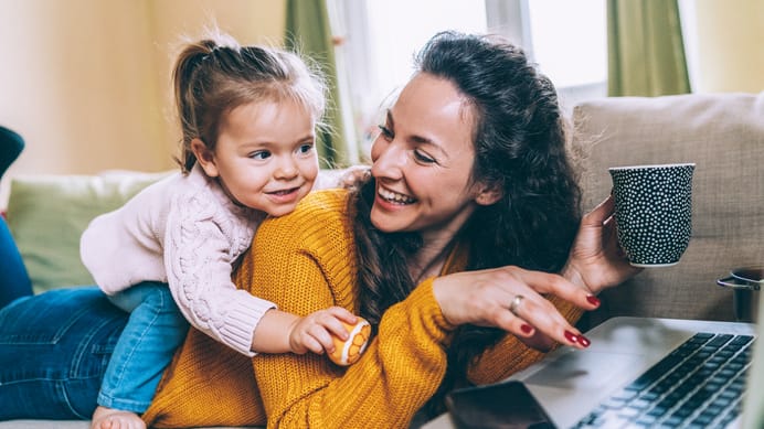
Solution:
<svg viewBox="0 0 764 429">
<path fill-rule="evenodd" d="M 607 93 L 690 93 L 677 0 L 607 0 Z"/>
</svg>

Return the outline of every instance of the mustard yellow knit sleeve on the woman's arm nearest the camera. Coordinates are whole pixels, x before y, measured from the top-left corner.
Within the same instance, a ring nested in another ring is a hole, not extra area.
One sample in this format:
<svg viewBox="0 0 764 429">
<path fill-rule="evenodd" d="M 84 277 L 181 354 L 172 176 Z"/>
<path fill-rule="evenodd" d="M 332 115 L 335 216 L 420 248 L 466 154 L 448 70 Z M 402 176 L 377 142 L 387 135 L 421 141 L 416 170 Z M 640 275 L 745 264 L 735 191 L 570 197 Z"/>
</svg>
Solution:
<svg viewBox="0 0 764 429">
<path fill-rule="evenodd" d="M 341 305 L 356 310 L 356 257 L 344 218 L 344 191 L 314 197 L 316 210 L 296 211 L 258 230 L 254 264 L 236 283 L 289 312 Z M 328 208 L 328 210 L 327 210 Z M 390 308 L 362 358 L 341 368 L 316 354 L 258 355 L 255 377 L 268 427 L 405 427 L 435 393 L 445 368 L 444 343 L 453 326 L 435 301 L 432 280 Z"/>
</svg>

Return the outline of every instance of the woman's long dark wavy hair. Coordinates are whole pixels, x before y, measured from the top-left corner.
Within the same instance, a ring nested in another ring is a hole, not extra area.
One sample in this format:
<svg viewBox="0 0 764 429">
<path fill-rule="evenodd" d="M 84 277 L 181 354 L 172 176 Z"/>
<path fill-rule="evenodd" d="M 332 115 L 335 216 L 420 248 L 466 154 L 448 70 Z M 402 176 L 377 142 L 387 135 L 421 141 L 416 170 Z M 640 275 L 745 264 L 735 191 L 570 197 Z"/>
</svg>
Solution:
<svg viewBox="0 0 764 429">
<path fill-rule="evenodd" d="M 427 42 L 416 56 L 416 73 L 447 79 L 465 97 L 476 118 L 471 180 L 502 192 L 497 203 L 478 206 L 455 238 L 470 246 L 468 269 L 514 265 L 559 271 L 581 219 L 581 193 L 552 83 L 519 47 L 495 36 L 456 32 L 438 33 Z M 373 199 L 372 179 L 350 204 L 360 260 L 360 313 L 375 324 L 416 286 L 406 260 L 420 238 L 375 229 L 369 218 Z M 459 328 L 448 348 L 441 394 L 463 380 L 468 364 L 503 334 Z"/>
</svg>

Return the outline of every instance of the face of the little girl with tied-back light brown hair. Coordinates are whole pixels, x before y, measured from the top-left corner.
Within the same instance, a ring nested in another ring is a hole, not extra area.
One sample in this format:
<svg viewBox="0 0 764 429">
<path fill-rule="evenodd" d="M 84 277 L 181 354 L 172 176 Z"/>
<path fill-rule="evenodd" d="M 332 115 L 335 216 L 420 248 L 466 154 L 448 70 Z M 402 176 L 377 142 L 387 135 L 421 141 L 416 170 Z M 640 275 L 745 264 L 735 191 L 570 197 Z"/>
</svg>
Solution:
<svg viewBox="0 0 764 429">
<path fill-rule="evenodd" d="M 291 100 L 262 101 L 238 106 L 222 119 L 214 152 L 194 149 L 206 174 L 219 178 L 240 205 L 272 216 L 294 211 L 318 174 L 310 111 Z"/>
</svg>

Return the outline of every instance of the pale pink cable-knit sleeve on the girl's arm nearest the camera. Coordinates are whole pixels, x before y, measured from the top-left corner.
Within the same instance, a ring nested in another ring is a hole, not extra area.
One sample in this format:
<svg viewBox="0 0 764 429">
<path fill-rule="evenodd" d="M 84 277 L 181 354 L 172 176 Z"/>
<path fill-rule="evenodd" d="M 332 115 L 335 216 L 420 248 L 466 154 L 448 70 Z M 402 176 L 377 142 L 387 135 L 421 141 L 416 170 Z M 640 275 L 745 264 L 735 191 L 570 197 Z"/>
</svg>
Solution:
<svg viewBox="0 0 764 429">
<path fill-rule="evenodd" d="M 170 291 L 198 330 L 246 356 L 270 301 L 237 290 L 231 275 L 248 248 L 254 225 L 205 192 L 181 194 L 167 218 L 165 266 Z"/>
</svg>

